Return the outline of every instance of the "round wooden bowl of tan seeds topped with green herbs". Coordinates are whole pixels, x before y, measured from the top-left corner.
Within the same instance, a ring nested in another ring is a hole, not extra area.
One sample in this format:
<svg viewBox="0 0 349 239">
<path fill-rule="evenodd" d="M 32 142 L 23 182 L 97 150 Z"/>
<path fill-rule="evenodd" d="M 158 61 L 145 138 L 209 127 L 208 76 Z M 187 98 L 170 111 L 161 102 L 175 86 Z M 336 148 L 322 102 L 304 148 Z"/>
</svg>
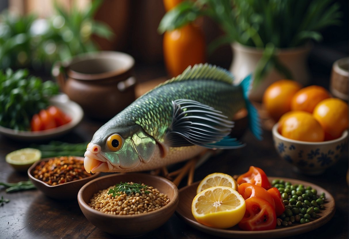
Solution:
<svg viewBox="0 0 349 239">
<path fill-rule="evenodd" d="M 137 237 L 163 225 L 176 211 L 179 192 L 170 180 L 149 174 L 112 174 L 81 187 L 77 201 L 97 228 Z"/>
</svg>

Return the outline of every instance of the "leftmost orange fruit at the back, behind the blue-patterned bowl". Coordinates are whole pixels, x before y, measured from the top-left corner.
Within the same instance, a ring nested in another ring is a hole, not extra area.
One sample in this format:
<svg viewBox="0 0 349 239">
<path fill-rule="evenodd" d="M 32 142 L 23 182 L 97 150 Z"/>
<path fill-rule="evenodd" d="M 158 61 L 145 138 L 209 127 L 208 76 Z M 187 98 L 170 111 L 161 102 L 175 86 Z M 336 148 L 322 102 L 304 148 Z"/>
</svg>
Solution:
<svg viewBox="0 0 349 239">
<path fill-rule="evenodd" d="M 278 80 L 263 93 L 262 103 L 269 116 L 275 121 L 291 110 L 291 100 L 302 86 L 294 80 Z"/>
</svg>

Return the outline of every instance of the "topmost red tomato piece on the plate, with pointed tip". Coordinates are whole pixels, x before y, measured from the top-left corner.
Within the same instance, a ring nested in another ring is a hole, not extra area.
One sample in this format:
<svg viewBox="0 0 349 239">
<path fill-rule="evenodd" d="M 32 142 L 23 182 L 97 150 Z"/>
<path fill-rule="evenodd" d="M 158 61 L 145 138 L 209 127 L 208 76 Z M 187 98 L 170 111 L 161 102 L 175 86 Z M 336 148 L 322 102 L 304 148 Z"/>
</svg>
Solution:
<svg viewBox="0 0 349 239">
<path fill-rule="evenodd" d="M 265 172 L 262 169 L 254 166 L 251 166 L 245 174 L 240 175 L 238 177 L 237 183 L 252 183 L 261 186 L 266 190 L 272 187 L 272 185 L 270 185 L 269 183 L 268 177 L 265 174 Z"/>
</svg>

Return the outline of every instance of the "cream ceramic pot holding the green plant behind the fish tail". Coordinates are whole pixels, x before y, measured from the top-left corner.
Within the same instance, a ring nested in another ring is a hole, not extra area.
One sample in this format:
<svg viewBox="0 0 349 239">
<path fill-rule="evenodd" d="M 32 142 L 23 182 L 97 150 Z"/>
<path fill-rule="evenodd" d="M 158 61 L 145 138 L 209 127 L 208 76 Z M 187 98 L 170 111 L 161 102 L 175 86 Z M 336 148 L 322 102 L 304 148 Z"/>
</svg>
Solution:
<svg viewBox="0 0 349 239">
<path fill-rule="evenodd" d="M 239 43 L 232 43 L 233 61 L 230 66 L 230 72 L 235 76 L 235 83 L 240 83 L 247 75 L 254 73 L 257 63 L 262 57 L 263 49 L 248 47 Z M 308 67 L 308 55 L 311 45 L 304 47 L 279 49 L 276 51 L 278 59 L 290 70 L 294 80 L 307 85 L 310 80 Z M 267 75 L 259 83 L 254 82 L 250 92 L 250 99 L 261 102 L 266 88 L 277 80 L 285 79 L 274 68 L 267 72 Z"/>
</svg>

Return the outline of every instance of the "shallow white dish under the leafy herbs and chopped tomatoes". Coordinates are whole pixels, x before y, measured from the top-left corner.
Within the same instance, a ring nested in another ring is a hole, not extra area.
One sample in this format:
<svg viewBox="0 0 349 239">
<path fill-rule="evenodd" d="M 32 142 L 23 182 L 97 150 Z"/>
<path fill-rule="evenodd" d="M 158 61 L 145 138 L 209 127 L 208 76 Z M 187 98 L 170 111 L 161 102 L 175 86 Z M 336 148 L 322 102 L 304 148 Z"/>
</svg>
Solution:
<svg viewBox="0 0 349 239">
<path fill-rule="evenodd" d="M 0 134 L 21 141 L 36 141 L 44 139 L 52 139 L 61 136 L 73 128 L 75 128 L 82 120 L 84 112 L 82 108 L 74 101 L 69 100 L 66 94 L 55 95 L 50 99 L 51 105 L 59 107 L 64 113 L 72 118 L 67 124 L 61 125 L 57 128 L 41 131 L 21 131 L 13 130 L 0 126 Z"/>
</svg>

